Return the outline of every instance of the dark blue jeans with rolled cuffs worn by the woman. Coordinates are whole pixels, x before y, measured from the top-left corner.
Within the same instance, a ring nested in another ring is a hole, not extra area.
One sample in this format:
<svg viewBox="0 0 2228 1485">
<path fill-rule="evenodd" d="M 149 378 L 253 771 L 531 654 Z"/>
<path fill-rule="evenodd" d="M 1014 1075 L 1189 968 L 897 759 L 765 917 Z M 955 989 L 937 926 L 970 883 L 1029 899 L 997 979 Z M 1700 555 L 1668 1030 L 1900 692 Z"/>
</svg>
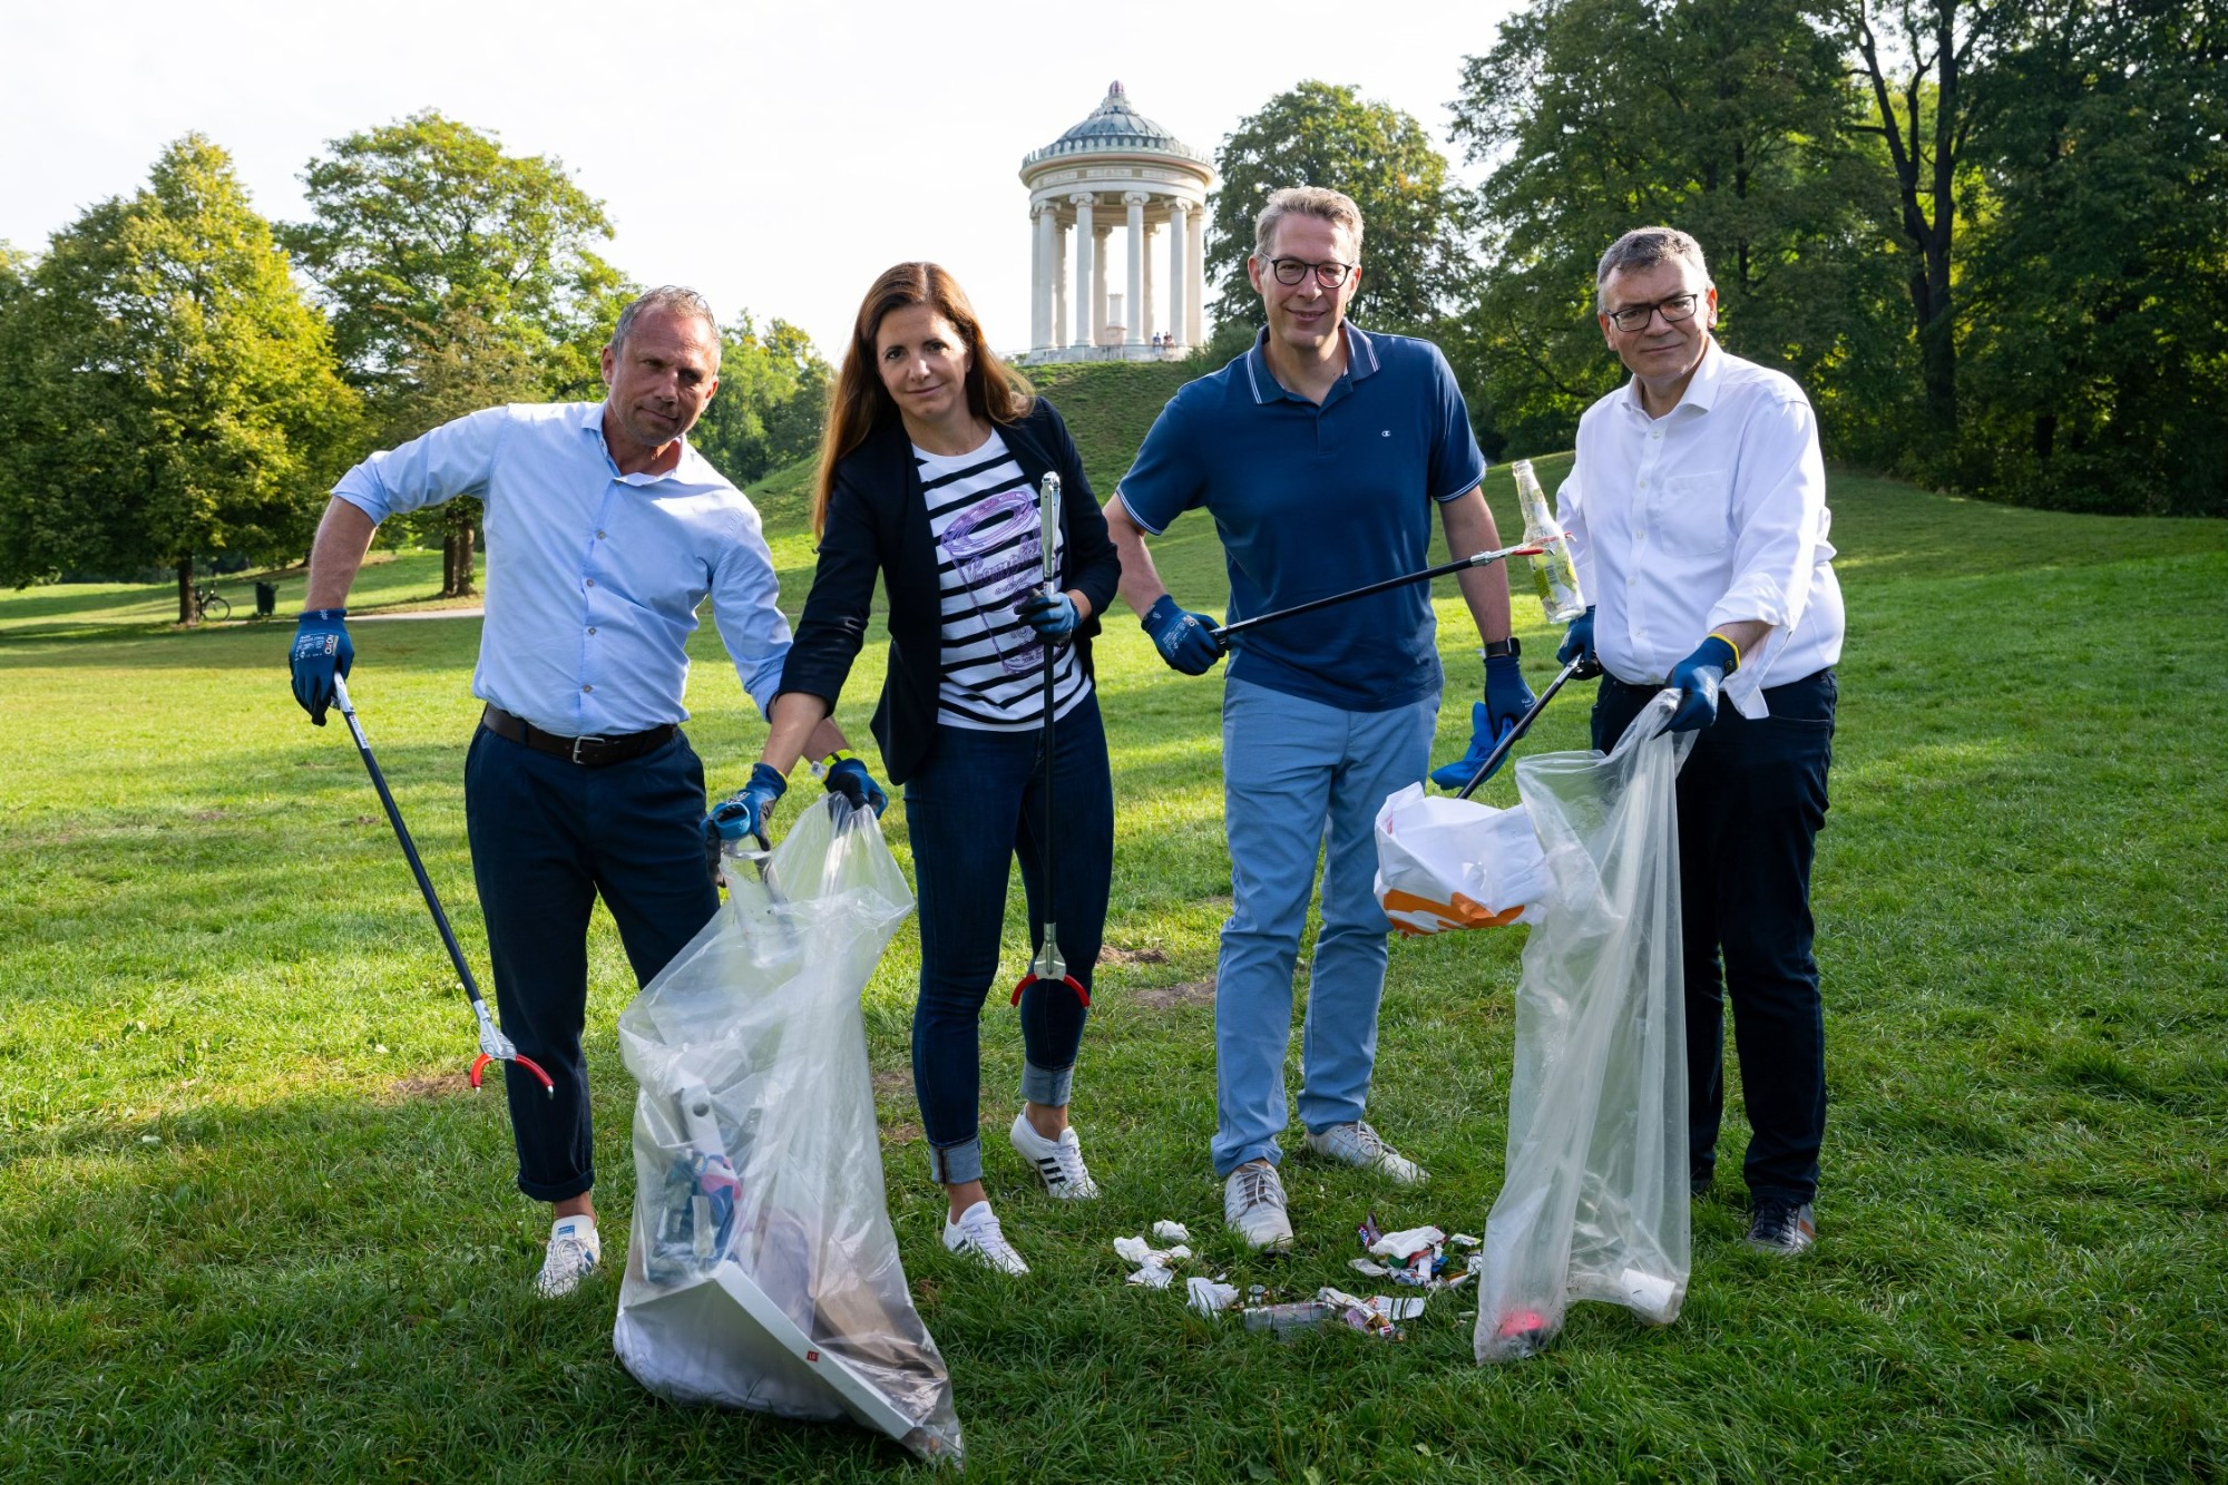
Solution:
<svg viewBox="0 0 2228 1485">
<path fill-rule="evenodd" d="M 1036 950 L 1058 925 L 1067 972 L 1085 988 L 1107 923 L 1114 876 L 1114 778 L 1096 691 L 1054 725 L 1058 901 L 1045 912 L 1043 734 L 938 727 L 920 771 L 905 780 L 905 827 L 920 899 L 920 1001 L 913 1008 L 913 1097 L 929 1137 L 929 1173 L 956 1186 L 983 1177 L 983 999 L 998 974 L 1005 879 L 1020 858 Z M 1020 1097 L 1065 1106 L 1083 1044 L 1083 1001 L 1058 983 L 1020 997 Z"/>
</svg>

